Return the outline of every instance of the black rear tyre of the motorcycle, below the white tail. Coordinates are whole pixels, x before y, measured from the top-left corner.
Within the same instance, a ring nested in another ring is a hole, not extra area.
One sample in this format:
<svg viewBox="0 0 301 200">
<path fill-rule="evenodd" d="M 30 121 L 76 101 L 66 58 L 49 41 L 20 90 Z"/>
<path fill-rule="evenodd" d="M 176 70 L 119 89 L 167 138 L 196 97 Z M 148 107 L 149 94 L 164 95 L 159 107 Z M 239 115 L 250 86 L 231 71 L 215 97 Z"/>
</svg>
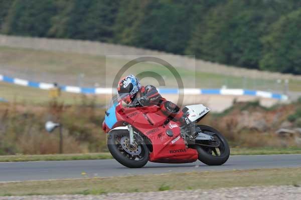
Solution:
<svg viewBox="0 0 301 200">
<path fill-rule="evenodd" d="M 210 148 L 195 144 L 194 148 L 199 153 L 199 160 L 207 165 L 224 164 L 230 156 L 230 147 L 229 147 L 229 144 L 228 144 L 226 138 L 218 130 L 216 130 L 210 126 L 198 125 L 198 127 L 201 130 L 206 130 L 206 131 L 210 131 L 210 132 L 214 133 L 220 139 L 221 145 L 223 145 L 222 146 L 223 152 L 221 152 L 221 154 L 219 156 L 214 156 L 209 153 L 211 150 Z M 211 153 L 212 153 L 212 150 L 211 150 Z"/>
</svg>

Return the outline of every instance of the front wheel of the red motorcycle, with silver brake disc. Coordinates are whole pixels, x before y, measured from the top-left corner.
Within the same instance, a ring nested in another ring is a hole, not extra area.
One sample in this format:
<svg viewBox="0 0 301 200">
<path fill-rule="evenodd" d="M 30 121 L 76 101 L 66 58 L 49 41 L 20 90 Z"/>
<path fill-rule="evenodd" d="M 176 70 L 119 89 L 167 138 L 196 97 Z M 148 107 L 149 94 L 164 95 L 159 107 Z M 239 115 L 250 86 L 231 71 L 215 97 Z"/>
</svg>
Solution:
<svg viewBox="0 0 301 200">
<path fill-rule="evenodd" d="M 128 130 L 112 130 L 108 134 L 108 149 L 112 156 L 129 168 L 140 168 L 148 161 L 148 148 L 141 137 L 134 135 L 134 145 L 129 143 Z"/>
</svg>

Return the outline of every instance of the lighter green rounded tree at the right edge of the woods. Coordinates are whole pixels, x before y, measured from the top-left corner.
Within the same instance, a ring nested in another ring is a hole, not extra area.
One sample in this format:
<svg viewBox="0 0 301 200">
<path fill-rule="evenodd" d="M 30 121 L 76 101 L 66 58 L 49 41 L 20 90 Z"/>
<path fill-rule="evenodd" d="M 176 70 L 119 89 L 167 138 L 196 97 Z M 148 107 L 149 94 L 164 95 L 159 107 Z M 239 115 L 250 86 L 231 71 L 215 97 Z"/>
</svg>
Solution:
<svg viewBox="0 0 301 200">
<path fill-rule="evenodd" d="M 263 37 L 260 68 L 301 74 L 301 9 L 282 16 Z"/>
</svg>

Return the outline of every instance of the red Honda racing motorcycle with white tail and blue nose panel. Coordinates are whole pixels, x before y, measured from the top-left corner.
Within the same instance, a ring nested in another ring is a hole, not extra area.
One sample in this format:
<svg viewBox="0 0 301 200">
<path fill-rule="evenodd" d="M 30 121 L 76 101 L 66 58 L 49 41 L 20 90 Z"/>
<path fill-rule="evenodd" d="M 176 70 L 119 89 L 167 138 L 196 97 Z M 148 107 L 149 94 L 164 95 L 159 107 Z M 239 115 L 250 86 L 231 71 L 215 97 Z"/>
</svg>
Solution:
<svg viewBox="0 0 301 200">
<path fill-rule="evenodd" d="M 210 111 L 202 104 L 190 105 L 183 112 L 194 123 Z M 208 165 L 221 165 L 230 155 L 229 145 L 216 129 L 197 125 L 198 134 L 191 138 L 190 130 L 162 113 L 157 105 L 125 106 L 114 100 L 105 112 L 102 128 L 112 156 L 130 168 L 144 166 L 147 161 L 187 163 L 197 159 Z"/>
</svg>

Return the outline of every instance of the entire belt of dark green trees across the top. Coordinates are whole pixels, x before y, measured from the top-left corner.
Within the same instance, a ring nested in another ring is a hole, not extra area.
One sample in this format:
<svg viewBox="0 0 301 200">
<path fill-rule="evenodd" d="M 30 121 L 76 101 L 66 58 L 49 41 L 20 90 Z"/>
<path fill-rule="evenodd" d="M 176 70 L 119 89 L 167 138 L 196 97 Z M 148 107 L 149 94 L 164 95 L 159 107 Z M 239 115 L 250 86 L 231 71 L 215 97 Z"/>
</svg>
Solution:
<svg viewBox="0 0 301 200">
<path fill-rule="evenodd" d="M 301 74 L 299 0 L 0 0 L 0 32 Z"/>
</svg>

